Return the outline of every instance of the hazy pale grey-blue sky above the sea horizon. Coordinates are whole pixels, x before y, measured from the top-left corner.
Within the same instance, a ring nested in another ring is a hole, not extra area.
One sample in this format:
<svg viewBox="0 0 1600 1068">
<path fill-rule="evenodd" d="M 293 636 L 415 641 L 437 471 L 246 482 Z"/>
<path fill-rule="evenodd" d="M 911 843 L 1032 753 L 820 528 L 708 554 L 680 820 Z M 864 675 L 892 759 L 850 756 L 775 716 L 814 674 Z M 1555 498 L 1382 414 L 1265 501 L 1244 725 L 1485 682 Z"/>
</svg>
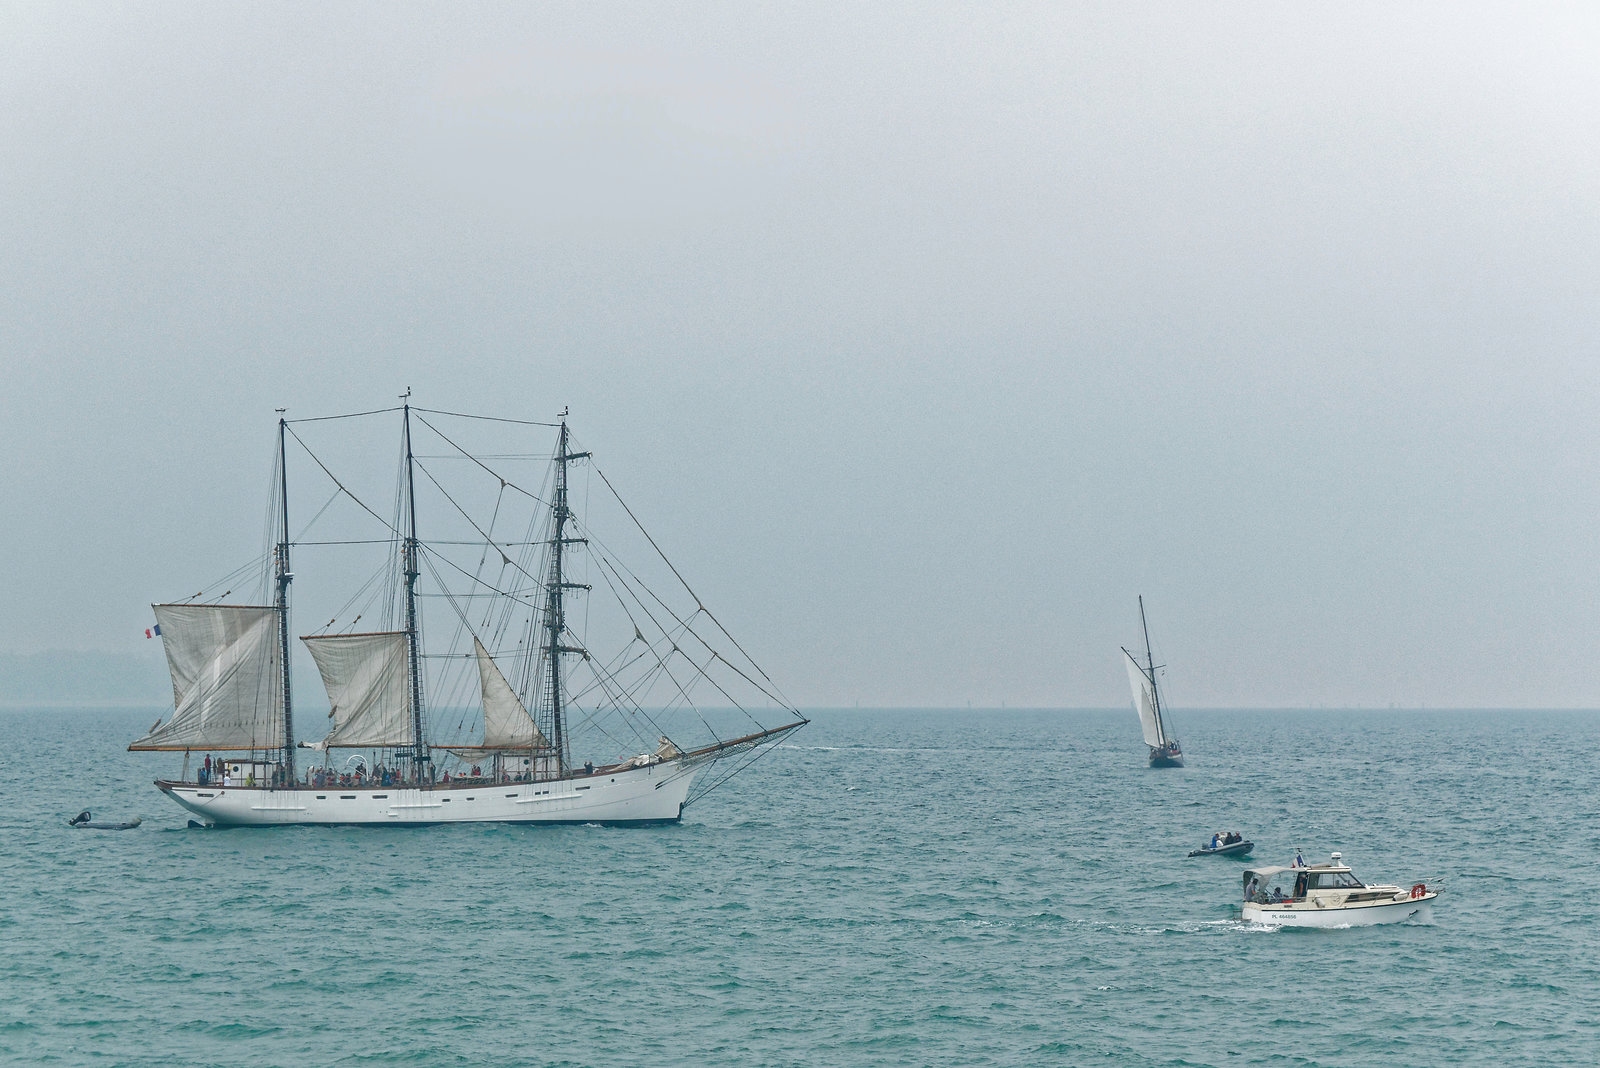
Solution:
<svg viewBox="0 0 1600 1068">
<path fill-rule="evenodd" d="M 1592 5 L 0 5 L 0 649 L 563 404 L 800 705 L 1600 707 Z M 154 694 L 158 699 L 160 694 Z"/>
</svg>

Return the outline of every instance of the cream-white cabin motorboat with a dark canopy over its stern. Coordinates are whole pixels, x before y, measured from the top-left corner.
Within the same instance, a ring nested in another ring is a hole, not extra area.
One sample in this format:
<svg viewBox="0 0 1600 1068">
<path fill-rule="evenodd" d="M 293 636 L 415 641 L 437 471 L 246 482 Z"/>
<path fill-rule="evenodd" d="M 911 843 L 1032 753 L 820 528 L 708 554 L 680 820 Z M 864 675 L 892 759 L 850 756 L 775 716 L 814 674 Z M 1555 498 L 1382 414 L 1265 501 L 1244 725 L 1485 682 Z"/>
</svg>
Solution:
<svg viewBox="0 0 1600 1068">
<path fill-rule="evenodd" d="M 1328 863 L 1283 868 L 1246 868 L 1243 875 L 1248 923 L 1277 927 L 1366 927 L 1406 919 L 1430 919 L 1434 900 L 1443 892 L 1435 879 L 1410 887 L 1362 883 L 1333 854 Z"/>
</svg>

